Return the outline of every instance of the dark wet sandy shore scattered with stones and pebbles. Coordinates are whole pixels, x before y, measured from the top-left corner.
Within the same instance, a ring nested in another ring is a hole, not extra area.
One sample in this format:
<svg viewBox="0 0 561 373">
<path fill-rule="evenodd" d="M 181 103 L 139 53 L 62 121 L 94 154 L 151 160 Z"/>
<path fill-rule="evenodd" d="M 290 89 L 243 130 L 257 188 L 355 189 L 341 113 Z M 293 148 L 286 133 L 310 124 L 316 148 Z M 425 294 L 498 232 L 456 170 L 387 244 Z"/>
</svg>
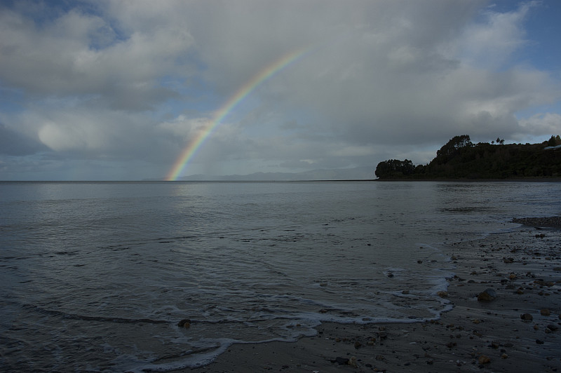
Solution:
<svg viewBox="0 0 561 373">
<path fill-rule="evenodd" d="M 326 323 L 185 372 L 561 372 L 561 230 L 534 223 L 445 249 L 456 276 L 441 295 L 454 308 L 438 321 Z M 496 298 L 478 300 L 486 289 Z"/>
</svg>

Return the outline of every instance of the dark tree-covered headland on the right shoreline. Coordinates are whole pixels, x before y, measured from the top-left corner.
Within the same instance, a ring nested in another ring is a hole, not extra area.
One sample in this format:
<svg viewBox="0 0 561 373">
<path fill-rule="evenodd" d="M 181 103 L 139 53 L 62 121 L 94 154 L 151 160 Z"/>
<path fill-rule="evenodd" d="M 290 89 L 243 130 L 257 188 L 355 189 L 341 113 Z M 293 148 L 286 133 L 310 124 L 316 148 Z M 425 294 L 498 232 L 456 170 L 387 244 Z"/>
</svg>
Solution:
<svg viewBox="0 0 561 373">
<path fill-rule="evenodd" d="M 499 138 L 489 144 L 473 144 L 468 135 L 453 137 L 426 165 L 390 159 L 376 168 L 379 179 L 519 179 L 561 177 L 559 135 L 541 144 L 504 144 Z"/>
</svg>

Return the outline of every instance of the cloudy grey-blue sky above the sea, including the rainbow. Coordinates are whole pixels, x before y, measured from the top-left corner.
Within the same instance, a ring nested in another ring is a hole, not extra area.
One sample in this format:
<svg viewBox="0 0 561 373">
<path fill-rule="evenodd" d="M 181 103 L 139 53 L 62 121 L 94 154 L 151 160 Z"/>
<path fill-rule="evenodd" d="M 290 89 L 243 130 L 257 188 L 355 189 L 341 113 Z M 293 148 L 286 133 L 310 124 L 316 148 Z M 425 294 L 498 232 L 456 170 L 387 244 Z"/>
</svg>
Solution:
<svg viewBox="0 0 561 373">
<path fill-rule="evenodd" d="M 543 142 L 560 17 L 558 0 L 4 0 L 0 180 L 374 175 L 455 135 Z"/>
</svg>

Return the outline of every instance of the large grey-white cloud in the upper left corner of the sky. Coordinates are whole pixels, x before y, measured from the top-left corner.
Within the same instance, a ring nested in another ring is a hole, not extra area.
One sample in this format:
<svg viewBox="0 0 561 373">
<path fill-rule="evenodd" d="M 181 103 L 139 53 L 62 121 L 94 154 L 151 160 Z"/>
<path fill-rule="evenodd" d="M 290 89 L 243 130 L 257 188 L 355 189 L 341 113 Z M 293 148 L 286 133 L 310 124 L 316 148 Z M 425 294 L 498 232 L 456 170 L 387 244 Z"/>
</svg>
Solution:
<svg viewBox="0 0 561 373">
<path fill-rule="evenodd" d="M 74 9 L 41 23 L 3 9 L 0 25 L 4 84 L 32 95 L 102 100 L 114 109 L 154 109 L 177 97 L 160 80 L 184 76 L 188 67 L 177 60 L 193 43 L 180 26 L 119 36 L 109 20 Z"/>
</svg>

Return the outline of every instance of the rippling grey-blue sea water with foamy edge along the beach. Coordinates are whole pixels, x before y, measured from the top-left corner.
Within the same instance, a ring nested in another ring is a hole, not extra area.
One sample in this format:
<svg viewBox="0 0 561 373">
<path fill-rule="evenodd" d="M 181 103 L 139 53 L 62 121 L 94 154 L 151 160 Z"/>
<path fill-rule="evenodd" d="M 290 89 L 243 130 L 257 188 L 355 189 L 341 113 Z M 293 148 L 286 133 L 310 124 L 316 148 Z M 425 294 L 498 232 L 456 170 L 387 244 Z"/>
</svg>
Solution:
<svg viewBox="0 0 561 373">
<path fill-rule="evenodd" d="M 0 182 L 0 370 L 165 371 L 327 321 L 438 318 L 447 245 L 561 214 L 559 196 L 538 182 Z"/>
</svg>

